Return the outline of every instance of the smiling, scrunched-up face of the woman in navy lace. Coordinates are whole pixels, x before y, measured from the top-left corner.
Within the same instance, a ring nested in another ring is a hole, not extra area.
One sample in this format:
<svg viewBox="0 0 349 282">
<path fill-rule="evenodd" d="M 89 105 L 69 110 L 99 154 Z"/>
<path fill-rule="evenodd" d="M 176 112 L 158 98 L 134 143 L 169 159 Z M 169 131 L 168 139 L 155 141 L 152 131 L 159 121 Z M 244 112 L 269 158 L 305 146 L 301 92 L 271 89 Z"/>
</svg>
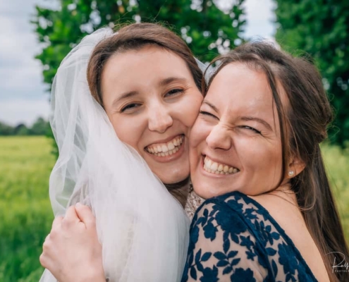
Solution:
<svg viewBox="0 0 349 282">
<path fill-rule="evenodd" d="M 190 134 L 190 172 L 195 192 L 204 198 L 276 188 L 280 128 L 262 71 L 230 63 L 217 73 Z"/>
</svg>

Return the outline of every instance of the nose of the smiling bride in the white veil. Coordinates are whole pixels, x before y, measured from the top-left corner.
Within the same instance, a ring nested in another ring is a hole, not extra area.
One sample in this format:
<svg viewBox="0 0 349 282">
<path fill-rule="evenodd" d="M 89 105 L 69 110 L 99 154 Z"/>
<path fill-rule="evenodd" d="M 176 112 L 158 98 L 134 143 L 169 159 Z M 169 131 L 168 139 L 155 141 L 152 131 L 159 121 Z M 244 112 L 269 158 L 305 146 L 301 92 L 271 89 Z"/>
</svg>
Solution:
<svg viewBox="0 0 349 282">
<path fill-rule="evenodd" d="M 157 104 L 152 109 L 149 109 L 148 128 L 150 131 L 164 133 L 172 124 L 173 119 L 171 113 L 165 106 Z"/>
</svg>

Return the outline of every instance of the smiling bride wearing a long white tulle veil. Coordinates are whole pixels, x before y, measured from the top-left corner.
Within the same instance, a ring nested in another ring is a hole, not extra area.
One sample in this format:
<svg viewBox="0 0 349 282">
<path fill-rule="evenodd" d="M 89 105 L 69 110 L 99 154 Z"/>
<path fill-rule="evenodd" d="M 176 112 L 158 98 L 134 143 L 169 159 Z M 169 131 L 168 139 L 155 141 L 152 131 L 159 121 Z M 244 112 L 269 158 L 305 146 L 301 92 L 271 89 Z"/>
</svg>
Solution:
<svg viewBox="0 0 349 282">
<path fill-rule="evenodd" d="M 111 281 L 180 281 L 190 224 L 188 135 L 201 80 L 185 42 L 149 23 L 98 30 L 66 56 L 51 97 L 59 159 L 49 183 L 56 219 L 40 257 L 45 268 L 69 251 L 56 243 L 83 216 L 74 205 L 82 203 L 96 221 L 79 228 L 96 224 L 104 269 L 84 269 L 81 254 L 70 265 L 80 267 L 81 281 L 91 271 Z M 60 275 L 45 270 L 41 281 L 77 281 Z"/>
</svg>

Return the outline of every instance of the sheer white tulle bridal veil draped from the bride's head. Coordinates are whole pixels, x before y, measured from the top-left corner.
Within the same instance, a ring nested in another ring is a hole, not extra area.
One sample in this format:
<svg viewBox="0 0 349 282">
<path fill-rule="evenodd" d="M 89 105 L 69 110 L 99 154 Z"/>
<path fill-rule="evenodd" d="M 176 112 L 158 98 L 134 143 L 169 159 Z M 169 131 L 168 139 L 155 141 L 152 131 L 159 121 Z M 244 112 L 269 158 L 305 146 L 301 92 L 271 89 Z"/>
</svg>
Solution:
<svg viewBox="0 0 349 282">
<path fill-rule="evenodd" d="M 55 215 L 75 202 L 92 207 L 110 281 L 180 281 L 189 219 L 142 157 L 118 139 L 87 85 L 92 50 L 111 35 L 103 28 L 82 39 L 54 79 L 50 122 L 59 159 L 49 180 L 51 204 Z M 40 281 L 56 279 L 45 270 Z"/>
</svg>

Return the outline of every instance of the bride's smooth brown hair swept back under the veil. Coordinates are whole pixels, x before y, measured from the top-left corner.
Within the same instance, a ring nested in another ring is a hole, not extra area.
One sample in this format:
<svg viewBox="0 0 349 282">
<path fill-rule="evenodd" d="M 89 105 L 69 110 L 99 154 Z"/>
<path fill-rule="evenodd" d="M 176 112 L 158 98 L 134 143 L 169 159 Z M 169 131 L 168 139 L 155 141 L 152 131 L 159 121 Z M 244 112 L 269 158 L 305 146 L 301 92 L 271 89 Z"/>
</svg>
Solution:
<svg viewBox="0 0 349 282">
<path fill-rule="evenodd" d="M 139 50 L 149 44 L 173 52 L 187 64 L 195 84 L 201 89 L 202 71 L 183 39 L 174 32 L 155 23 L 133 23 L 117 30 L 114 35 L 103 39 L 92 51 L 87 66 L 87 82 L 94 99 L 103 106 L 101 78 L 104 65 L 118 53 Z"/>
</svg>

